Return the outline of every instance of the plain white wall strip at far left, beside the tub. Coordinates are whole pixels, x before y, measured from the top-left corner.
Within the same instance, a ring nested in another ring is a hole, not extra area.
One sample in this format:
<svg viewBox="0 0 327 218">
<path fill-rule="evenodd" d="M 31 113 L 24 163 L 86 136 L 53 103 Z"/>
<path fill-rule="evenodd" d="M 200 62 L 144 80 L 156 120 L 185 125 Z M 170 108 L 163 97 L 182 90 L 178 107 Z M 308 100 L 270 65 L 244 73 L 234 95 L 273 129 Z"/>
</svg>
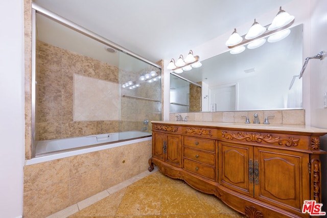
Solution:
<svg viewBox="0 0 327 218">
<path fill-rule="evenodd" d="M 15 218 L 23 205 L 23 1 L 0 1 L 0 8 L 0 216 Z"/>
</svg>

